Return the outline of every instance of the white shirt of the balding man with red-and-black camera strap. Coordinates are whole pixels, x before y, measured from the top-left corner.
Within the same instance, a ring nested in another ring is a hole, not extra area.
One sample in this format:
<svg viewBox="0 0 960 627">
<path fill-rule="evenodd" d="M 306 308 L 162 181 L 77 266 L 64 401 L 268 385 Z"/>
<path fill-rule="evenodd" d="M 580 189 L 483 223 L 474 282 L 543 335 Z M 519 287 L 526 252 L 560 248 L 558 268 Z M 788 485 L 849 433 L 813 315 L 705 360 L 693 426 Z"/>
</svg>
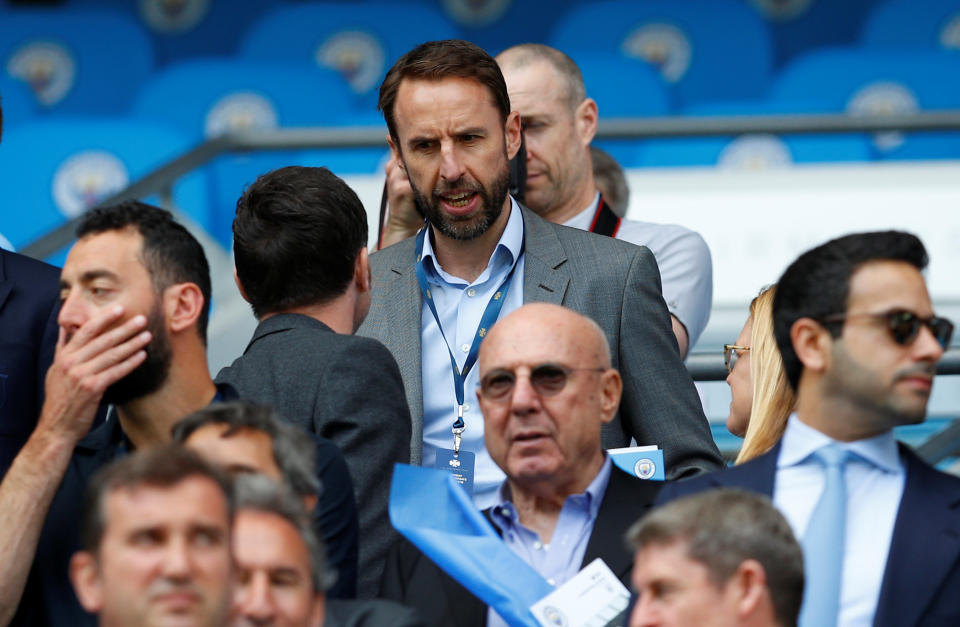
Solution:
<svg viewBox="0 0 960 627">
<path fill-rule="evenodd" d="M 590 206 L 564 226 L 589 231 L 599 200 L 597 193 Z M 676 224 L 627 219 L 621 220 L 615 239 L 646 246 L 653 253 L 667 310 L 683 323 L 692 348 L 707 326 L 713 303 L 713 261 L 707 243 L 695 231 Z"/>
</svg>

